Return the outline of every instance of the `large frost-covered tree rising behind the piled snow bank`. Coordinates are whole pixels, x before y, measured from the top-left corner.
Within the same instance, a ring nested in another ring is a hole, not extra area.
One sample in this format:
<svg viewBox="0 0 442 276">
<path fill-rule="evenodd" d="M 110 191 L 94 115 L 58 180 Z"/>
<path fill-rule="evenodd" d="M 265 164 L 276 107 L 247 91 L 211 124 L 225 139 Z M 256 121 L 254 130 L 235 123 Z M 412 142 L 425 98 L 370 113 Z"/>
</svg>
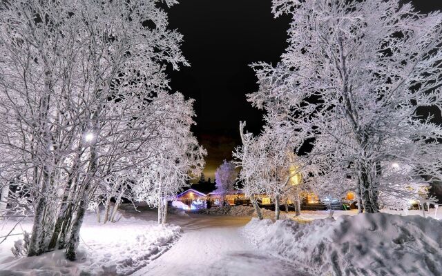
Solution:
<svg viewBox="0 0 442 276">
<path fill-rule="evenodd" d="M 442 103 L 439 12 L 398 0 L 273 0 L 273 12 L 292 17 L 289 47 L 278 66 L 254 66 L 249 99 L 280 115 L 297 150 L 311 144 L 304 174 L 338 189 L 351 179 L 369 213 L 383 193 L 441 178 L 442 128 L 424 114 Z M 386 177 L 394 162 L 411 169 Z"/>
</svg>

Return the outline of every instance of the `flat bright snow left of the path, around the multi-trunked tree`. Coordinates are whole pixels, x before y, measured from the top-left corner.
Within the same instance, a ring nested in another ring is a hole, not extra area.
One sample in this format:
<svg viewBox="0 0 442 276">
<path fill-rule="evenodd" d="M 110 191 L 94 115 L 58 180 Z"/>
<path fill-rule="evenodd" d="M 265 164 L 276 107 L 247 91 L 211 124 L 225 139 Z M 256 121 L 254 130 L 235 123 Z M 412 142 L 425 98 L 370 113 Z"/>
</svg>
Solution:
<svg viewBox="0 0 442 276">
<path fill-rule="evenodd" d="M 156 259 L 182 235 L 179 226 L 157 225 L 157 213 L 148 208 L 123 206 L 122 216 L 115 223 L 98 224 L 95 214 L 88 214 L 80 231 L 79 256 L 76 262 L 64 257 L 64 250 L 55 250 L 38 257 L 17 259 L 10 248 L 21 235 L 12 235 L 0 244 L 0 275 L 130 275 Z M 173 221 L 186 217 L 171 215 Z M 0 224 L 0 236 L 12 226 Z M 30 231 L 32 220 L 23 221 L 13 233 Z"/>
</svg>

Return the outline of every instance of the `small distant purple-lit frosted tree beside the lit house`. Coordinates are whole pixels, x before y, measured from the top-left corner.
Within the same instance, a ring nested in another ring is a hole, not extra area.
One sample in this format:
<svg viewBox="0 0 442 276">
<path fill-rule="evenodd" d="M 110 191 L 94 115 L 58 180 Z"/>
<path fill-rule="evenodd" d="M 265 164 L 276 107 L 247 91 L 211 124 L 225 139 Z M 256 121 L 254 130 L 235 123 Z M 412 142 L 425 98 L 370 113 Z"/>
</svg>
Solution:
<svg viewBox="0 0 442 276">
<path fill-rule="evenodd" d="M 215 192 L 222 196 L 222 205 L 226 202 L 226 195 L 234 190 L 237 175 L 235 164 L 227 160 L 215 170 Z"/>
</svg>

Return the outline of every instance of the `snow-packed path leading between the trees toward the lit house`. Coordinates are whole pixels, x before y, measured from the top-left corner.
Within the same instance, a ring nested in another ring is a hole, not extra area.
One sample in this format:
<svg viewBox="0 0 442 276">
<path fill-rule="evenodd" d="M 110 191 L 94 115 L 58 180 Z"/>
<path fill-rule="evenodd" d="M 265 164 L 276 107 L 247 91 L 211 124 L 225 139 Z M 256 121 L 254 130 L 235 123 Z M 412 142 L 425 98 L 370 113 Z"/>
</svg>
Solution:
<svg viewBox="0 0 442 276">
<path fill-rule="evenodd" d="M 248 221 L 236 217 L 193 215 L 191 221 L 180 225 L 184 234 L 177 244 L 133 275 L 308 275 L 247 244 L 240 234 L 240 227 Z"/>
</svg>

